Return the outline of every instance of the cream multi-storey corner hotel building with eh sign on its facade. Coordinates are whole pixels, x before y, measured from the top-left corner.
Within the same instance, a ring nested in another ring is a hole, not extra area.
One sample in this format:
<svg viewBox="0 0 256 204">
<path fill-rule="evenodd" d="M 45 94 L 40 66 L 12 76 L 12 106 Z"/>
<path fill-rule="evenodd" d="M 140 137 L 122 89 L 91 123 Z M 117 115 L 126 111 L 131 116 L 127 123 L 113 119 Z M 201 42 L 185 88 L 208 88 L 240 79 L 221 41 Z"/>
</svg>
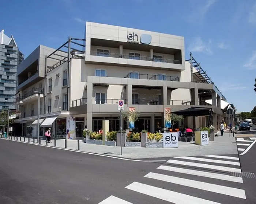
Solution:
<svg viewBox="0 0 256 204">
<path fill-rule="evenodd" d="M 81 137 L 84 126 L 97 131 L 103 119 L 109 120 L 109 130 L 118 130 L 118 99 L 124 99 L 126 110 L 140 112 L 135 126 L 149 132 L 164 127 L 165 107 L 172 112 L 212 108 L 215 127 L 223 117 L 223 95 L 192 56 L 185 61 L 181 36 L 87 22 L 85 39 L 69 38 L 57 50 L 37 47 L 18 67 L 17 81 L 21 112 L 16 123 L 22 125 L 22 135 L 36 134 L 35 90 L 41 91 L 41 127 L 52 127 L 56 137 L 65 137 L 70 116 L 75 118 L 69 127 L 73 137 Z M 205 103 L 212 98 L 214 104 Z M 180 125 L 206 123 L 207 116 L 200 116 Z"/>
</svg>

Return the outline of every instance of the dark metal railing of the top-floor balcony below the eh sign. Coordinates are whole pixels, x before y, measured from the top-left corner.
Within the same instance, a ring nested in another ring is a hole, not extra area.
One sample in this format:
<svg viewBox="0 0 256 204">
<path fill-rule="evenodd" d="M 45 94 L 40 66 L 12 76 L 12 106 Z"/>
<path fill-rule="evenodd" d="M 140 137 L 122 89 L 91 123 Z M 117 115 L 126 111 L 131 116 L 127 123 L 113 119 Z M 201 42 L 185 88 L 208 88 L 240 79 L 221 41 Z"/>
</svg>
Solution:
<svg viewBox="0 0 256 204">
<path fill-rule="evenodd" d="M 151 58 L 149 56 L 134 56 L 134 55 L 120 55 L 118 53 L 102 53 L 97 51 L 91 51 L 91 55 L 94 56 L 103 56 L 103 57 L 112 57 L 112 58 L 124 58 L 124 59 L 136 59 L 136 60 L 145 60 L 153 62 L 163 62 L 163 63 L 172 63 L 172 64 L 181 64 L 180 60 L 177 59 L 158 59 Z"/>
</svg>

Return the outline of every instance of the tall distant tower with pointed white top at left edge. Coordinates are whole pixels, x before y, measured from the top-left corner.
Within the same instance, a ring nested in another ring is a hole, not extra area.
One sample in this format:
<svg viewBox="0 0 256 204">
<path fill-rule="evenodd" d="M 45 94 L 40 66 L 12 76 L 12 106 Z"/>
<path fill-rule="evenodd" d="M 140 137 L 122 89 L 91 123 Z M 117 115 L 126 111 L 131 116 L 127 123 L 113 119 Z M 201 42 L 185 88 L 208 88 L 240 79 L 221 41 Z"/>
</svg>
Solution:
<svg viewBox="0 0 256 204">
<path fill-rule="evenodd" d="M 0 111 L 16 109 L 14 104 L 16 94 L 17 65 L 23 62 L 24 55 L 11 35 L 9 38 L 0 32 Z"/>
</svg>

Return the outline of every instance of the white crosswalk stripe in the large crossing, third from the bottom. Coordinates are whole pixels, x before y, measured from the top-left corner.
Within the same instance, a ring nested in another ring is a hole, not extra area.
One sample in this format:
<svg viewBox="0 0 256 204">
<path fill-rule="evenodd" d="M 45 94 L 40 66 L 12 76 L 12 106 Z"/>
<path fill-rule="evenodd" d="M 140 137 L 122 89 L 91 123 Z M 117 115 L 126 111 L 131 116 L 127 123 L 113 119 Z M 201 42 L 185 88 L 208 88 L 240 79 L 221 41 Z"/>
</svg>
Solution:
<svg viewBox="0 0 256 204">
<path fill-rule="evenodd" d="M 166 182 L 173 183 L 173 184 L 184 185 L 184 186 L 188 186 L 191 188 L 197 188 L 197 189 L 201 189 L 203 191 L 210 191 L 210 192 L 214 192 L 214 193 L 220 193 L 223 195 L 246 199 L 245 191 L 243 189 L 231 188 L 231 187 L 222 186 L 222 185 L 216 185 L 216 184 L 210 184 L 210 183 L 205 183 L 205 182 L 201 182 L 201 181 L 189 180 L 187 178 L 167 176 L 164 174 L 153 173 L 153 172 L 148 173 L 144 177 L 153 178 L 153 179 L 160 180 L 160 181 L 166 181 Z"/>
</svg>

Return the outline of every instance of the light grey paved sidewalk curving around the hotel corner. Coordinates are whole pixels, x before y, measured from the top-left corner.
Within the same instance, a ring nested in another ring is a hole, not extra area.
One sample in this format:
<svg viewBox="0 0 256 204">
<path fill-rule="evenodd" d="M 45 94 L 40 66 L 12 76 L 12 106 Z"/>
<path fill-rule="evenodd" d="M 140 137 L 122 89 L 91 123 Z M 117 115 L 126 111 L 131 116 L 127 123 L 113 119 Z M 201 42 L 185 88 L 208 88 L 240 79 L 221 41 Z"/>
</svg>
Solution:
<svg viewBox="0 0 256 204">
<path fill-rule="evenodd" d="M 23 141 L 23 138 L 21 138 Z M 25 138 L 28 142 L 28 138 Z M 15 138 L 16 140 L 16 138 Z M 18 140 L 20 140 L 18 138 Z M 56 146 L 64 148 L 65 140 L 57 140 Z M 35 139 L 35 142 L 37 140 Z M 33 139 L 30 138 L 30 143 L 33 143 Z M 123 147 L 123 155 L 120 155 L 120 147 L 86 144 L 82 140 L 80 143 L 80 151 L 105 154 L 110 156 L 142 159 L 142 158 L 161 158 L 161 157 L 174 157 L 174 156 L 200 156 L 211 154 L 237 154 L 236 140 L 231 135 L 228 137 L 228 133 L 224 133 L 224 136 L 215 137 L 215 141 L 209 141 L 209 145 L 199 146 L 191 142 L 178 142 L 178 148 L 163 149 L 163 148 L 140 148 L 140 147 Z M 41 145 L 46 145 L 45 140 L 41 140 Z M 48 143 L 48 146 L 54 146 L 54 140 L 52 143 Z M 67 149 L 78 150 L 78 140 L 67 140 Z M 47 151 L 47 150 L 46 150 Z"/>
</svg>

